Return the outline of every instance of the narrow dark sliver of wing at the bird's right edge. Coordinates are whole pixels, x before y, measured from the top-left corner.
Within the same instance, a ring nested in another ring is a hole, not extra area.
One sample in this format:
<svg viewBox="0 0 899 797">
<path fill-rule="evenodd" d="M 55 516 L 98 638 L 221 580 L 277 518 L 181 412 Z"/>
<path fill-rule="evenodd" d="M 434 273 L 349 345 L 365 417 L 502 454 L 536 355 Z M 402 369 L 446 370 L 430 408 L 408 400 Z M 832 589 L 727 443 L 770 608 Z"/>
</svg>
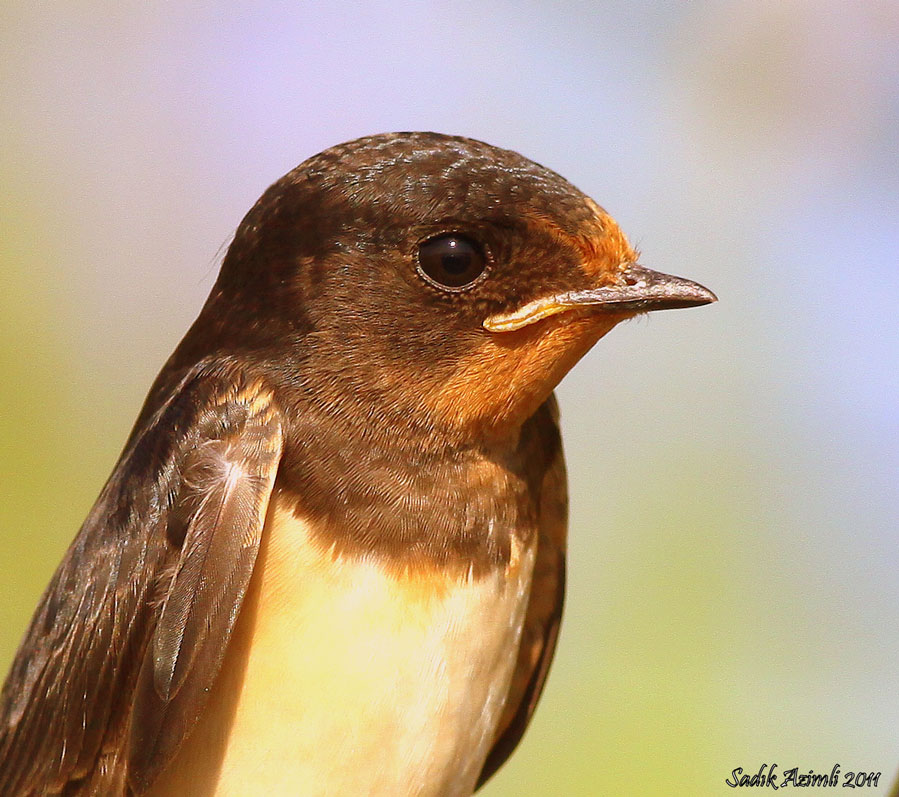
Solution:
<svg viewBox="0 0 899 797">
<path fill-rule="evenodd" d="M 502 766 L 521 740 L 546 683 L 559 636 L 565 599 L 568 485 L 558 421 L 558 406 L 555 397 L 550 397 L 529 422 L 533 424 L 532 460 L 540 496 L 537 559 L 509 696 L 478 787 Z"/>
</svg>

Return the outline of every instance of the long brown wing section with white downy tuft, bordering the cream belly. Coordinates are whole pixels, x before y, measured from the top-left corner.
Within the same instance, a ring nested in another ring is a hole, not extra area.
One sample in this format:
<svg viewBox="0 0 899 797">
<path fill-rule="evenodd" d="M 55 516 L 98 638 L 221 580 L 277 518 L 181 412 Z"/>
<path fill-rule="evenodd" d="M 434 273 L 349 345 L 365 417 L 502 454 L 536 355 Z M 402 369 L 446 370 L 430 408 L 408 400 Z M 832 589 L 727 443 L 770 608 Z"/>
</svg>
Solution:
<svg viewBox="0 0 899 797">
<path fill-rule="evenodd" d="M 129 780 L 149 787 L 205 706 L 224 658 L 262 539 L 280 457 L 268 424 L 206 441 L 184 480 L 195 505 L 138 681 L 129 744 Z M 247 469 L 248 463 L 253 463 Z M 212 677 L 210 677 L 210 673 Z"/>
</svg>

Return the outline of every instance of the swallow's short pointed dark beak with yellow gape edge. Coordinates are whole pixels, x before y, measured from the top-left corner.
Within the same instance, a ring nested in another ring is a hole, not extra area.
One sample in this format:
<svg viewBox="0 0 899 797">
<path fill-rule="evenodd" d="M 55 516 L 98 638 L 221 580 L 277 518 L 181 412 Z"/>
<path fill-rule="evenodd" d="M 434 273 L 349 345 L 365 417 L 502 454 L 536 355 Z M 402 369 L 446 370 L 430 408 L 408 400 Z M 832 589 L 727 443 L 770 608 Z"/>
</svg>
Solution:
<svg viewBox="0 0 899 797">
<path fill-rule="evenodd" d="M 718 301 L 714 293 L 698 282 L 652 271 L 636 263 L 628 264 L 618 277 L 614 285 L 554 294 L 528 302 L 511 313 L 490 316 L 484 320 L 484 328 L 490 332 L 511 332 L 547 316 L 577 308 L 636 314 L 699 307 Z"/>
</svg>

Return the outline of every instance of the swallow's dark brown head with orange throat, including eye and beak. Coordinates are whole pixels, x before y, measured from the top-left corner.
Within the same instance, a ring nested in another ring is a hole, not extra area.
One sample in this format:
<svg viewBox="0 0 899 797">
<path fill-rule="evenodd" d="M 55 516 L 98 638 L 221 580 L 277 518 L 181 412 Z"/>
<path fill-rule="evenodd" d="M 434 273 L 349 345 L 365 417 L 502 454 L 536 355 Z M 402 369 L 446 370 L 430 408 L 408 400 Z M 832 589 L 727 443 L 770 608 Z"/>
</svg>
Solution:
<svg viewBox="0 0 899 797">
<path fill-rule="evenodd" d="M 204 314 L 324 407 L 465 437 L 514 431 L 620 321 L 714 300 L 638 265 L 615 221 L 549 169 L 394 133 L 275 183 Z"/>
</svg>

